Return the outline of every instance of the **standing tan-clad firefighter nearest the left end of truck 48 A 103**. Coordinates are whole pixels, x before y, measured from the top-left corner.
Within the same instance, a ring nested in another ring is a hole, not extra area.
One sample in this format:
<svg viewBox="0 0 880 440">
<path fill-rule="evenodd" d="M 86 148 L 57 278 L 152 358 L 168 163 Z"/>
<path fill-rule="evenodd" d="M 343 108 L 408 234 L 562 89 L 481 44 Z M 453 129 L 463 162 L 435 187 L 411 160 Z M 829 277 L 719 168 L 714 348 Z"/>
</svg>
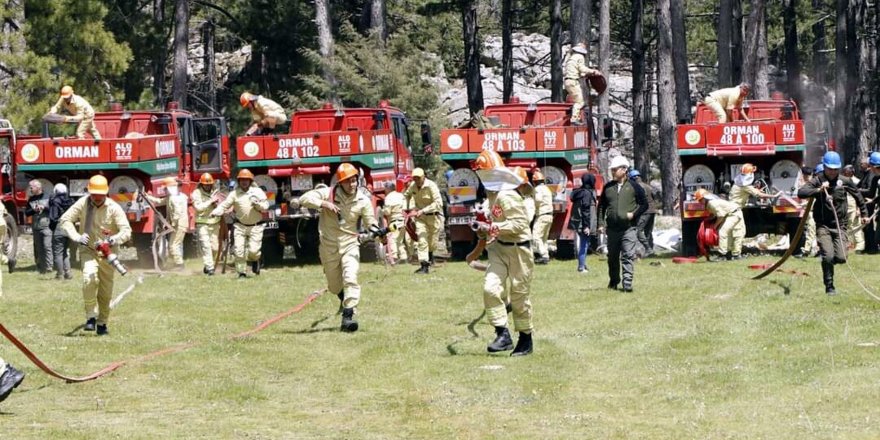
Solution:
<svg viewBox="0 0 880 440">
<path fill-rule="evenodd" d="M 425 177 L 425 170 L 416 168 L 412 176 L 413 182 L 404 191 L 403 197 L 411 197 L 415 205 L 412 214 L 416 219 L 416 234 L 419 237 L 417 249 L 420 265 L 416 273 L 426 274 L 434 263 L 437 238 L 443 228 L 443 200 L 437 184 Z"/>
</svg>

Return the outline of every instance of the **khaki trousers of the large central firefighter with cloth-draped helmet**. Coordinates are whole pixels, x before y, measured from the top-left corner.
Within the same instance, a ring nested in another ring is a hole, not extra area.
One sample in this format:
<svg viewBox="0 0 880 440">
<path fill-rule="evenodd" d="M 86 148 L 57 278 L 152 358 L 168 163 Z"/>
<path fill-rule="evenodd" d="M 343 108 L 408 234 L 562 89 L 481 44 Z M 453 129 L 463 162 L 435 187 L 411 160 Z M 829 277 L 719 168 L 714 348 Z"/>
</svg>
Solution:
<svg viewBox="0 0 880 440">
<path fill-rule="evenodd" d="M 532 251 L 523 246 L 506 246 L 495 242 L 489 245 L 489 266 L 483 280 L 483 305 L 489 323 L 495 327 L 507 326 L 504 298 L 510 297 L 513 308 L 513 326 L 518 332 L 532 331 L 532 269 L 535 262 Z M 507 282 L 510 288 L 507 289 Z"/>
</svg>

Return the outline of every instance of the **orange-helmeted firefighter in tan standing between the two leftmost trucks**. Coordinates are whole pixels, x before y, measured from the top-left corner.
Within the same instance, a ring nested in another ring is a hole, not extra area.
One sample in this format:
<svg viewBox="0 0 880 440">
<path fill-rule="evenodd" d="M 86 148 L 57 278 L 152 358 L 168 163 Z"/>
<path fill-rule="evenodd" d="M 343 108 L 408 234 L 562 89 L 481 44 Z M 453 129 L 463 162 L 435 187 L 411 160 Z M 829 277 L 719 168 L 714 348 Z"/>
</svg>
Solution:
<svg viewBox="0 0 880 440">
<path fill-rule="evenodd" d="M 214 275 L 214 258 L 220 250 L 220 217 L 211 215 L 223 198 L 219 189 L 214 188 L 214 177 L 208 173 L 199 177 L 199 187 L 190 195 L 196 210 L 196 235 L 202 252 L 202 272 Z"/>
</svg>

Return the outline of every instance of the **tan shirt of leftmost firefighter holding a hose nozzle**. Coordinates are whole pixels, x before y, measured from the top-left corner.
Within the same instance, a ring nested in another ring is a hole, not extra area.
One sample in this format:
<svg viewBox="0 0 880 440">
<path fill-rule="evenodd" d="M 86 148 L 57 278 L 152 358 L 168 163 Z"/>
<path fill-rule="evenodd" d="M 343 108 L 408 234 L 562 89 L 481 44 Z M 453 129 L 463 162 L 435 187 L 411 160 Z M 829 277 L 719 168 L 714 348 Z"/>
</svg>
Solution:
<svg viewBox="0 0 880 440">
<path fill-rule="evenodd" d="M 92 213 L 89 214 L 89 211 Z M 92 219 L 92 224 L 86 225 L 89 217 Z M 77 222 L 79 222 L 78 230 L 74 226 Z M 125 218 L 125 211 L 110 197 L 104 199 L 104 204 L 101 206 L 92 204 L 88 195 L 81 197 L 61 216 L 58 226 L 73 241 L 78 242 L 83 233 L 89 234 L 90 249 L 94 249 L 98 240 L 105 238 L 112 238 L 114 247 L 131 238 L 131 226 Z"/>
</svg>

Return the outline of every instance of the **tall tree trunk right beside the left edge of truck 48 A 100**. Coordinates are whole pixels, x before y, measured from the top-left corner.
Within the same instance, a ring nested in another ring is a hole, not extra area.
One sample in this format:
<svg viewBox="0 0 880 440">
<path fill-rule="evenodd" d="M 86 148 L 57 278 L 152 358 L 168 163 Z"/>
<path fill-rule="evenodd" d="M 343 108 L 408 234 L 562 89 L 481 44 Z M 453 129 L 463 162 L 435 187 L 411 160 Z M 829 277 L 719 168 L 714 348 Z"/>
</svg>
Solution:
<svg viewBox="0 0 880 440">
<path fill-rule="evenodd" d="M 672 18 L 670 0 L 657 0 L 657 114 L 660 122 L 660 174 L 663 212 L 672 214 L 681 181 L 681 164 L 675 148 L 675 73 L 672 67 Z"/>
</svg>

